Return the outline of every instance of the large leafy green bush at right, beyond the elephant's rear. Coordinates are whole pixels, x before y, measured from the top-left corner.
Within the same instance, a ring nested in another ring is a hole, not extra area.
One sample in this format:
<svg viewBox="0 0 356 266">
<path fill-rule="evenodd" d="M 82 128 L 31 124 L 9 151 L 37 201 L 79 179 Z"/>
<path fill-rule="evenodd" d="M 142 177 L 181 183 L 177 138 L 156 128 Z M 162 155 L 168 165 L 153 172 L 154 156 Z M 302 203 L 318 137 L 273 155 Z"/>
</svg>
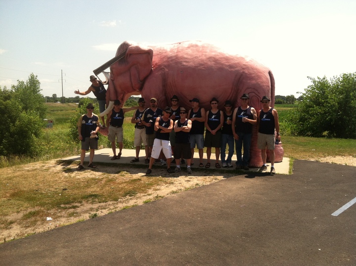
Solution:
<svg viewBox="0 0 356 266">
<path fill-rule="evenodd" d="M 312 85 L 290 113 L 292 133 L 304 136 L 356 138 L 356 72 L 327 80 L 308 77 Z"/>
</svg>

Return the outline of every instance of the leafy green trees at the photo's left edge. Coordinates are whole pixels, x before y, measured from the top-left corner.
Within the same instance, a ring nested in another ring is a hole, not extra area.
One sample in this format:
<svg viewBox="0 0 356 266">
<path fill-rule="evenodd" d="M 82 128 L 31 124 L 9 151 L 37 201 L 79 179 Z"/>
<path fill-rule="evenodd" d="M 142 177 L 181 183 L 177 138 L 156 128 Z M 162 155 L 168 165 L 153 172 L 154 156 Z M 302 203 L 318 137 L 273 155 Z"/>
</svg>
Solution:
<svg viewBox="0 0 356 266">
<path fill-rule="evenodd" d="M 40 155 L 39 138 L 45 126 L 45 98 L 40 82 L 31 74 L 26 82 L 17 81 L 11 89 L 0 88 L 0 156 Z"/>
</svg>

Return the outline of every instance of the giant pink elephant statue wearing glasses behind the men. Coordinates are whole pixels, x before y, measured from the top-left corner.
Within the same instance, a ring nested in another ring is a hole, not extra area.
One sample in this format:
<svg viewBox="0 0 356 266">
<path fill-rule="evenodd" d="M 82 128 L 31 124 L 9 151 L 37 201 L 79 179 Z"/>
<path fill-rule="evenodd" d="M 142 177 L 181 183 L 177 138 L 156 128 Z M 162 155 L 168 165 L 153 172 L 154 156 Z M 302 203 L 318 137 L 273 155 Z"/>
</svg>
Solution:
<svg viewBox="0 0 356 266">
<path fill-rule="evenodd" d="M 125 102 L 132 95 L 141 95 L 146 101 L 155 97 L 162 109 L 170 106 L 173 95 L 178 96 L 179 105 L 186 109 L 191 108 L 189 100 L 198 98 L 200 107 L 209 110 L 213 97 L 219 100 L 220 109 L 226 100 L 237 107 L 243 93 L 249 94 L 250 105 L 256 110 L 262 108 L 260 100 L 265 95 L 271 99 L 271 106 L 274 105 L 274 78 L 266 66 L 253 59 L 224 53 L 211 44 L 188 41 L 145 46 L 124 42 L 116 56 L 94 70 L 94 74 L 109 66 L 110 75 L 106 75 L 108 108 L 100 116 L 112 109 L 114 100 Z M 250 166 L 261 165 L 255 130 Z"/>
</svg>

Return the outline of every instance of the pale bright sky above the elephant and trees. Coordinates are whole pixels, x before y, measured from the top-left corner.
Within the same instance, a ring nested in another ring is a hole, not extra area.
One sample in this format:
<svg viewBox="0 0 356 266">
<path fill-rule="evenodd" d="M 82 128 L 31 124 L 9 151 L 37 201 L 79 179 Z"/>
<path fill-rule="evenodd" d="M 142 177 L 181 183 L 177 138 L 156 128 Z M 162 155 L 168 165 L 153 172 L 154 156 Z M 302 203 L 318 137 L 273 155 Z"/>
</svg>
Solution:
<svg viewBox="0 0 356 266">
<path fill-rule="evenodd" d="M 0 87 L 34 73 L 44 96 L 87 90 L 124 41 L 246 55 L 272 71 L 276 95 L 356 72 L 355 0 L 0 0 L 0 10 Z"/>
</svg>

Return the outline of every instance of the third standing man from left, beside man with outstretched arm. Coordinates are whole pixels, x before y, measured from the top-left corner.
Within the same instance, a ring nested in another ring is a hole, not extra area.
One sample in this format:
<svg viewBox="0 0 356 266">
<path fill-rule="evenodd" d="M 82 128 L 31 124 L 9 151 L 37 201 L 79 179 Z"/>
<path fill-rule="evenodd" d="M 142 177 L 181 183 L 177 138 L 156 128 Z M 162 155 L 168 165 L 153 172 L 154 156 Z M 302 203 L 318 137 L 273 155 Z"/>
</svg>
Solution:
<svg viewBox="0 0 356 266">
<path fill-rule="evenodd" d="M 145 146 L 145 163 L 149 163 L 148 159 L 148 145 L 147 145 L 147 136 L 145 126 L 141 123 L 142 115 L 146 110 L 145 100 L 144 98 L 138 99 L 138 109 L 134 112 L 134 115 L 131 119 L 131 123 L 135 124 L 135 132 L 134 132 L 134 146 L 136 147 L 136 157 L 131 160 L 131 163 L 139 162 L 138 155 L 141 149 L 141 142 Z"/>
</svg>

